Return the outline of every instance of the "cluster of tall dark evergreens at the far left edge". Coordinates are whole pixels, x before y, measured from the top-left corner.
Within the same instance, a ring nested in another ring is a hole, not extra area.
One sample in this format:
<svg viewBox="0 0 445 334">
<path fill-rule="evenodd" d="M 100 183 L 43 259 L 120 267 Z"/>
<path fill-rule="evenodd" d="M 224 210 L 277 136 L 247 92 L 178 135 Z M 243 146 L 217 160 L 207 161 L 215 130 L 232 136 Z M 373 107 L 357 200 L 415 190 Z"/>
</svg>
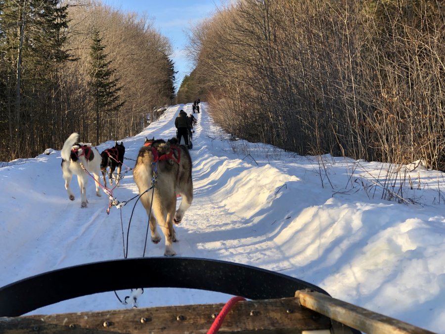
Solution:
<svg viewBox="0 0 445 334">
<path fill-rule="evenodd" d="M 48 122 L 56 128 L 58 73 L 69 58 L 64 50 L 67 5 L 1 0 L 0 15 L 0 143 L 9 143 L 13 159 L 53 143 L 54 133 L 44 129 Z"/>
</svg>

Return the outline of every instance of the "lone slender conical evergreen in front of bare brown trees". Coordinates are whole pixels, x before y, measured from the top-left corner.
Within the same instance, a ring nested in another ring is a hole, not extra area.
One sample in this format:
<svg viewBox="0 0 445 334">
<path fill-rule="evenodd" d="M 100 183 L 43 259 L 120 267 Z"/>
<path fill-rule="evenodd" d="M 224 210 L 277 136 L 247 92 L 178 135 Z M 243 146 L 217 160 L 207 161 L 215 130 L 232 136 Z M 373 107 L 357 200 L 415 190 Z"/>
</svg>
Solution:
<svg viewBox="0 0 445 334">
<path fill-rule="evenodd" d="M 92 98 L 93 110 L 96 116 L 96 143 L 100 143 L 101 132 L 99 131 L 103 125 L 103 118 L 107 117 L 110 121 L 109 126 L 113 127 L 113 114 L 121 109 L 124 105 L 120 101 L 119 92 L 122 87 L 118 86 L 118 79 L 113 78 L 115 69 L 111 67 L 111 60 L 107 60 L 108 55 L 105 53 L 105 46 L 102 44 L 102 38 L 96 30 L 93 33 L 92 43 L 90 45 L 90 65 L 89 73 L 90 96 Z"/>
</svg>

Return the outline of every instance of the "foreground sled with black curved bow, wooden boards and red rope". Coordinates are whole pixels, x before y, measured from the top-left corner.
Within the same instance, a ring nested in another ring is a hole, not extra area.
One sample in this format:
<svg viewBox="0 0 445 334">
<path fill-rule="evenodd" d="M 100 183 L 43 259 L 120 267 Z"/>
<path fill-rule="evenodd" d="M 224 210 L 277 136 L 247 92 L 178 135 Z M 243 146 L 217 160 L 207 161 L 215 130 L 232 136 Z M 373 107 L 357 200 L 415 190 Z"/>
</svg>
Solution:
<svg viewBox="0 0 445 334">
<path fill-rule="evenodd" d="M 201 289 L 236 297 L 225 305 L 21 317 L 63 300 L 135 286 Z M 332 298 L 311 283 L 219 260 L 151 257 L 95 262 L 0 288 L 2 334 L 71 333 L 73 329 L 73 333 L 98 334 L 109 332 L 107 328 L 112 333 L 206 333 L 209 329 L 207 333 L 217 333 L 218 329 L 219 333 L 432 333 Z"/>
</svg>

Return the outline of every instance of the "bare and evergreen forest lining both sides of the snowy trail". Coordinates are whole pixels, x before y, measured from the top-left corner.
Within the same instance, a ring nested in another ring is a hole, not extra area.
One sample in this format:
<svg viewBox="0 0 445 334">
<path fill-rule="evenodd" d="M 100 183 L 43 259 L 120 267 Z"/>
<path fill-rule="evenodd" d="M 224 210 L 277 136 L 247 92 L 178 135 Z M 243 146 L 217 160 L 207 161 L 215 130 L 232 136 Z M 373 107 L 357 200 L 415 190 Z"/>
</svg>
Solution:
<svg viewBox="0 0 445 334">
<path fill-rule="evenodd" d="M 196 97 L 225 131 L 301 155 L 445 170 L 445 4 L 236 0 L 172 46 L 93 0 L 0 0 L 0 161 L 133 136 Z"/>
</svg>

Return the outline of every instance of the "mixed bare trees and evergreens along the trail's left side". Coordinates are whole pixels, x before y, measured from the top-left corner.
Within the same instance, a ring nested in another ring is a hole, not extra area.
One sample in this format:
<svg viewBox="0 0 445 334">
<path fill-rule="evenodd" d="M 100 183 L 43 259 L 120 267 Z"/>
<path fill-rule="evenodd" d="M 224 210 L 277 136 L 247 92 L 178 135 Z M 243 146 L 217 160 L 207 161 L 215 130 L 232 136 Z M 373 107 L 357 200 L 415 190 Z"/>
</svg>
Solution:
<svg viewBox="0 0 445 334">
<path fill-rule="evenodd" d="M 175 98 L 172 47 L 100 2 L 0 0 L 0 161 L 140 132 Z M 151 118 L 153 119 L 153 118 Z"/>
</svg>

